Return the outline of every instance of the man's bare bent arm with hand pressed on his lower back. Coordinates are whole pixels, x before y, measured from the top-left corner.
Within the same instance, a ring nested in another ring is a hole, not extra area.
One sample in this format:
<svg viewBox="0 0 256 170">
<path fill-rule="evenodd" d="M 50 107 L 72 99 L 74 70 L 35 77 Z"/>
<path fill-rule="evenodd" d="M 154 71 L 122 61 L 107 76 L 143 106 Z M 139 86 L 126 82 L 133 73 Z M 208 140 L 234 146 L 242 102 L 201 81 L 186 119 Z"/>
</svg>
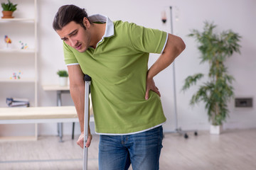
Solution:
<svg viewBox="0 0 256 170">
<path fill-rule="evenodd" d="M 145 95 L 146 100 L 149 98 L 150 90 L 156 92 L 156 94 L 159 94 L 160 96 L 159 89 L 157 89 L 157 87 L 155 86 L 153 77 L 156 76 L 156 74 L 159 74 L 159 72 L 161 72 L 163 69 L 168 67 L 172 62 L 174 62 L 175 58 L 181 54 L 185 47 L 186 45 L 181 38 L 177 37 L 176 35 L 168 35 L 168 40 L 166 42 L 166 47 L 164 48 L 164 51 L 147 72 Z"/>
</svg>

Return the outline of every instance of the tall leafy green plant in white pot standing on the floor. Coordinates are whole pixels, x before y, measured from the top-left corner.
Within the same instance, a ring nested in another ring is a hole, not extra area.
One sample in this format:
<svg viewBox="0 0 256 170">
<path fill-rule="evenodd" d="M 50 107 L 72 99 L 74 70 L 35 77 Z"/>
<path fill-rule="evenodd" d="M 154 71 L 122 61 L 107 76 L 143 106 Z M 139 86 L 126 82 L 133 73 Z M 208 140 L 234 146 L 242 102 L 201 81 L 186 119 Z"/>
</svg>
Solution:
<svg viewBox="0 0 256 170">
<path fill-rule="evenodd" d="M 198 42 L 198 50 L 201 52 L 201 64 L 209 64 L 209 72 L 206 82 L 199 86 L 198 91 L 193 94 L 190 105 L 203 101 L 210 121 L 210 131 L 220 134 L 223 122 L 228 116 L 228 101 L 233 97 L 233 76 L 228 74 L 225 67 L 225 60 L 232 56 L 234 52 L 240 53 L 240 35 L 232 30 L 214 33 L 216 26 L 213 23 L 205 22 L 203 32 L 192 30 L 189 37 L 195 38 Z M 202 73 L 188 76 L 182 91 L 186 91 L 204 76 Z"/>
</svg>

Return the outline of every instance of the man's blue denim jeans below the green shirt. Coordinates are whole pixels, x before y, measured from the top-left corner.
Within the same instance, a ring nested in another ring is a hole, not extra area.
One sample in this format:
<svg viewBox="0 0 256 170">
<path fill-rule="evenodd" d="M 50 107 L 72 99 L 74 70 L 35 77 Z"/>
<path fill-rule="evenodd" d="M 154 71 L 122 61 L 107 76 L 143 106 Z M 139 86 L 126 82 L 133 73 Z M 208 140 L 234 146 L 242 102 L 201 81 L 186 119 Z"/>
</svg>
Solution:
<svg viewBox="0 0 256 170">
<path fill-rule="evenodd" d="M 99 169 L 159 169 L 163 128 L 159 126 L 134 135 L 100 135 Z"/>
</svg>

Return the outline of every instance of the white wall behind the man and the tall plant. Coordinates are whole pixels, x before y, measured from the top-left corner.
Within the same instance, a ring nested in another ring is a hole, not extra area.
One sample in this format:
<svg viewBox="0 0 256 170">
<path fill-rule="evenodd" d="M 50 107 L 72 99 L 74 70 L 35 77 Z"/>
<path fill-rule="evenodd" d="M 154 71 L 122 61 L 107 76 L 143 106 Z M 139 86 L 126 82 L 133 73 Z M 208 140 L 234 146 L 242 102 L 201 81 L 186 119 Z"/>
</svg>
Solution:
<svg viewBox="0 0 256 170">
<path fill-rule="evenodd" d="M 158 28 L 170 32 L 169 6 L 173 6 L 174 34 L 183 38 L 186 42 L 186 50 L 176 59 L 176 90 L 178 106 L 178 125 L 183 129 L 207 130 L 209 127 L 208 117 L 203 103 L 193 108 L 188 105 L 189 99 L 196 91 L 191 88 L 186 93 L 181 92 L 183 80 L 197 72 L 207 72 L 208 65 L 199 65 L 200 53 L 196 49 L 196 42 L 188 38 L 192 29 L 202 30 L 204 21 L 214 21 L 218 25 L 217 30 L 232 29 L 242 36 L 240 45 L 241 54 L 235 54 L 226 62 L 228 71 L 236 81 L 235 96 L 255 98 L 256 80 L 251 75 L 256 73 L 256 1 L 254 0 L 161 0 L 161 1 L 38 1 L 38 31 L 39 31 L 39 88 L 38 105 L 55 106 L 56 95 L 54 92 L 43 91 L 43 84 L 58 84 L 55 72 L 65 69 L 63 62 L 62 42 L 52 29 L 53 17 L 58 8 L 64 4 L 75 4 L 83 7 L 89 14 L 102 13 L 109 16 L 112 21 L 122 19 L 137 23 L 149 28 Z M 161 23 L 161 11 L 166 11 L 167 22 Z M 151 55 L 149 66 L 157 59 L 158 55 Z M 159 86 L 161 99 L 166 117 L 165 131 L 174 130 L 174 92 L 172 66 L 165 69 L 154 79 Z M 73 102 L 70 96 L 63 96 L 63 104 L 70 105 Z M 255 106 L 255 101 L 253 103 Z M 235 108 L 234 100 L 229 105 L 230 117 L 225 123 L 225 128 L 256 128 L 256 109 Z M 77 126 L 78 127 L 78 124 Z M 40 125 L 39 134 L 55 134 L 56 125 Z M 65 124 L 65 133 L 70 134 L 70 124 Z M 79 133 L 79 128 L 76 128 Z"/>
</svg>

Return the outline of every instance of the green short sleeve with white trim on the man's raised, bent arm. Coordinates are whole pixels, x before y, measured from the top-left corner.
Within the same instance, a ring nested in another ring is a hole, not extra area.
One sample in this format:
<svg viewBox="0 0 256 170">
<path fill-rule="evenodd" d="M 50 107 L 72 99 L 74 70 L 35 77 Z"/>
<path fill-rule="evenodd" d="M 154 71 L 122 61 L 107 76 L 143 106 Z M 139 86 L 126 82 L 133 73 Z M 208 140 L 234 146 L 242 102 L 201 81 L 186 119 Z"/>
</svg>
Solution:
<svg viewBox="0 0 256 170">
<path fill-rule="evenodd" d="M 168 34 L 161 30 L 144 28 L 131 23 L 129 38 L 135 50 L 160 54 L 164 50 Z"/>
</svg>

